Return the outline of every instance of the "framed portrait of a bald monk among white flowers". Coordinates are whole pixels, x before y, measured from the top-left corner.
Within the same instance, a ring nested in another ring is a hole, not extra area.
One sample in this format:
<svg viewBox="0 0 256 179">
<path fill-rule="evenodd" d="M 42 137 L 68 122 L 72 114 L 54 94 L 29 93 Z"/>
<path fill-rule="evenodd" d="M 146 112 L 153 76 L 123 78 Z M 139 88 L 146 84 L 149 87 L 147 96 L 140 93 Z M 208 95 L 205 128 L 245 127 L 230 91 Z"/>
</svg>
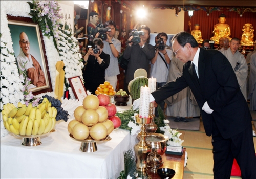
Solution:
<svg viewBox="0 0 256 179">
<path fill-rule="evenodd" d="M 30 79 L 30 90 L 34 95 L 51 88 L 47 60 L 38 24 L 8 19 L 14 56 L 21 78 Z"/>
</svg>

